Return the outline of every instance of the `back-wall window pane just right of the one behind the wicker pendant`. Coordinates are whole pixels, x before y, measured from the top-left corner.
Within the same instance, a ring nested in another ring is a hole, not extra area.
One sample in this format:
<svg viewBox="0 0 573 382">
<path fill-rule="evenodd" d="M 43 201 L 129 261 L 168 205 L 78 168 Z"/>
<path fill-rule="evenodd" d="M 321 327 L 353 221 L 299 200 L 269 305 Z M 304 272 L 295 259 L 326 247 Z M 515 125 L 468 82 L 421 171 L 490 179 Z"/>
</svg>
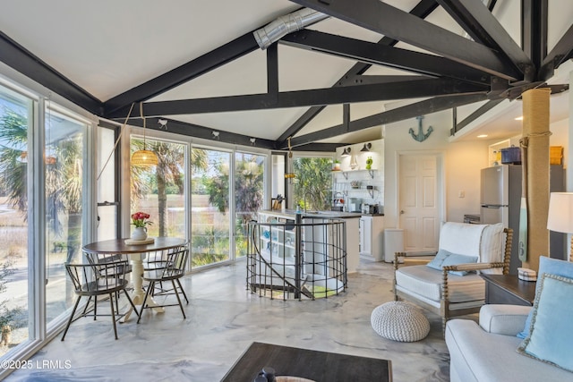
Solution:
<svg viewBox="0 0 573 382">
<path fill-rule="evenodd" d="M 191 150 L 192 267 L 230 259 L 229 183 L 231 154 Z"/>
</svg>

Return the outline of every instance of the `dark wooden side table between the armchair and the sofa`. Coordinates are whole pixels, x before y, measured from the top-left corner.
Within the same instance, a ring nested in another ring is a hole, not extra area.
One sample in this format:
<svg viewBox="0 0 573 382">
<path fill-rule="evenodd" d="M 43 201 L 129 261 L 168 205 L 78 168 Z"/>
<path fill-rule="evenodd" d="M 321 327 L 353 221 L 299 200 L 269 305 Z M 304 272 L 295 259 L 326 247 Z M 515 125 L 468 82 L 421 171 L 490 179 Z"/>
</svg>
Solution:
<svg viewBox="0 0 573 382">
<path fill-rule="evenodd" d="M 485 303 L 533 306 L 535 281 L 523 281 L 516 275 L 482 275 Z"/>
</svg>

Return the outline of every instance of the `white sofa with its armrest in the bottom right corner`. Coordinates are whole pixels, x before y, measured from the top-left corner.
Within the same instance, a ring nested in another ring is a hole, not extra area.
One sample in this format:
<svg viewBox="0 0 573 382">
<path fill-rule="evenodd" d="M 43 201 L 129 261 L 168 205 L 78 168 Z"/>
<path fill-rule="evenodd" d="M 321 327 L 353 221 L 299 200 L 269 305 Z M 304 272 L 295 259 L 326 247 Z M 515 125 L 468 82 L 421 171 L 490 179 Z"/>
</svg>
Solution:
<svg viewBox="0 0 573 382">
<path fill-rule="evenodd" d="M 446 326 L 451 382 L 573 381 L 573 373 L 517 352 L 530 307 L 484 305 L 479 326 L 451 319 Z"/>
</svg>

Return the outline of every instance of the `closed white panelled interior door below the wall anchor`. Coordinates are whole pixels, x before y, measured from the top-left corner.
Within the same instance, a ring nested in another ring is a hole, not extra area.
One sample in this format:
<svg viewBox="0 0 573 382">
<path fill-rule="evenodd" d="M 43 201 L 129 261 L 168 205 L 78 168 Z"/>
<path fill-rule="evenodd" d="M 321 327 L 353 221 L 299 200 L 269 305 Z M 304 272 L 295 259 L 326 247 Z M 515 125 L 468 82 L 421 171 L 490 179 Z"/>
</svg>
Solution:
<svg viewBox="0 0 573 382">
<path fill-rule="evenodd" d="M 399 224 L 407 252 L 438 250 L 440 234 L 439 155 L 400 155 Z"/>
</svg>

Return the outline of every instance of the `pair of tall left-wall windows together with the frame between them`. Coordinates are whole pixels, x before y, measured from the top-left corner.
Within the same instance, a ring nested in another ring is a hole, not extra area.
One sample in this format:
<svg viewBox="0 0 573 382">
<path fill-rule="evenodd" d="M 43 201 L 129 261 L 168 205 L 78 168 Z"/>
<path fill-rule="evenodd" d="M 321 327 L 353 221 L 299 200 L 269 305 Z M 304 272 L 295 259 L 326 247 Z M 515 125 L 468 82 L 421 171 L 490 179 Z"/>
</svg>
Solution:
<svg viewBox="0 0 573 382">
<path fill-rule="evenodd" d="M 55 330 L 73 301 L 64 263 L 81 261 L 87 135 L 49 99 L 0 87 L 2 357 Z"/>
</svg>

